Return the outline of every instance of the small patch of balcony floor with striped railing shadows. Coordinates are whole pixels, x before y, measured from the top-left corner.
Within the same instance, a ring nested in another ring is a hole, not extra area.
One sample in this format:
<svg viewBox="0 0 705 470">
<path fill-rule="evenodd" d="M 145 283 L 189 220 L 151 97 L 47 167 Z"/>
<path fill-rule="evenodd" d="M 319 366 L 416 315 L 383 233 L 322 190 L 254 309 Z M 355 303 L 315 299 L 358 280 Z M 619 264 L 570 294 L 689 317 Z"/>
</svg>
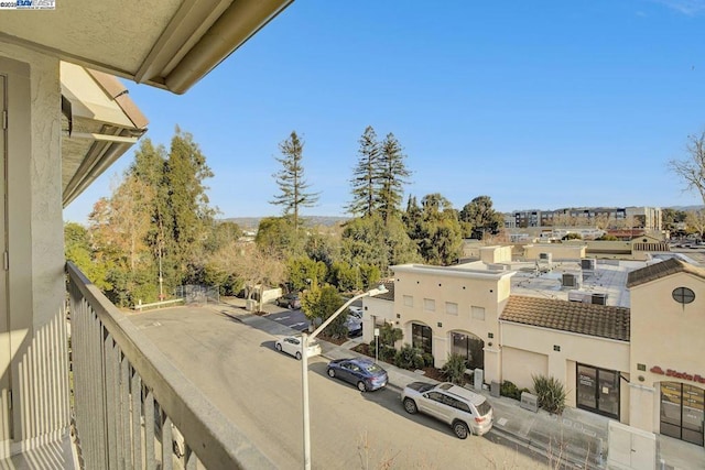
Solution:
<svg viewBox="0 0 705 470">
<path fill-rule="evenodd" d="M 9 459 L 0 459 L 0 469 L 13 470 L 76 470 L 78 469 L 76 452 L 72 438 L 66 435 L 61 439 L 43 444 L 24 452 L 17 453 Z"/>
</svg>

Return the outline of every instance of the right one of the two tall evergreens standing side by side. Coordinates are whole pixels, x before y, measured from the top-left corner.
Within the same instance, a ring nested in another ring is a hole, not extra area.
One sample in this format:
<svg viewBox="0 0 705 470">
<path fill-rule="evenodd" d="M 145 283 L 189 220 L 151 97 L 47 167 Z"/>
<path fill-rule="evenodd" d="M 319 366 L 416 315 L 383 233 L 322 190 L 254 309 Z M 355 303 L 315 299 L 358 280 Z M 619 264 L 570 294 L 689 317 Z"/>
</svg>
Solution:
<svg viewBox="0 0 705 470">
<path fill-rule="evenodd" d="M 404 184 L 411 172 L 404 163 L 405 155 L 394 134 L 387 134 L 381 145 L 379 160 L 379 194 L 377 195 L 377 206 L 382 216 L 384 225 L 399 211 L 399 206 L 403 197 Z"/>
</svg>

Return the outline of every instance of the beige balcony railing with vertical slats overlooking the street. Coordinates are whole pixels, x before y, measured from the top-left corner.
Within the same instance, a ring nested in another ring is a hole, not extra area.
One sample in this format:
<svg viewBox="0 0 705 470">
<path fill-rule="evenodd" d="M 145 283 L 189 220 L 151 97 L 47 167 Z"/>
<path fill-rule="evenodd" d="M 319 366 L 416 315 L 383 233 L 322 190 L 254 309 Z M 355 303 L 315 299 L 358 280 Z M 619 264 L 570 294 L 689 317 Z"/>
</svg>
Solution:
<svg viewBox="0 0 705 470">
<path fill-rule="evenodd" d="M 66 270 L 83 468 L 274 468 L 76 266 Z"/>
</svg>

